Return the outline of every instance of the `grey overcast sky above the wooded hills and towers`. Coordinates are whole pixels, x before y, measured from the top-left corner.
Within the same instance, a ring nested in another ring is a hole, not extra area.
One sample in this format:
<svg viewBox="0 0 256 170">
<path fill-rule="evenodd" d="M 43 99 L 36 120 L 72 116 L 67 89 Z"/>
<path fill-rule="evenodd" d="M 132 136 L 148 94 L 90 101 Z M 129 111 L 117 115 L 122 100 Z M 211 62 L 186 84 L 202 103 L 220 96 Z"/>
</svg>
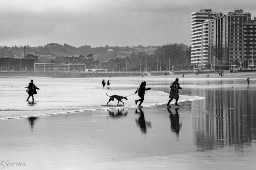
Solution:
<svg viewBox="0 0 256 170">
<path fill-rule="evenodd" d="M 255 0 L 1 0 L 0 46 L 190 46 L 191 13 L 256 16 Z"/>
</svg>

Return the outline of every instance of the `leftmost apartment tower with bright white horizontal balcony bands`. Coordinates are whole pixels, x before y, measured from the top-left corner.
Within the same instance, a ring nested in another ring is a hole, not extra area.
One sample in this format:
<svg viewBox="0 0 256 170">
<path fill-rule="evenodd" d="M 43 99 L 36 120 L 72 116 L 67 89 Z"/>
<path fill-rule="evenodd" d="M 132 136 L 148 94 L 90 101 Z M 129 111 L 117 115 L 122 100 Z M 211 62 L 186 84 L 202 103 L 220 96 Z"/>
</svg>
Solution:
<svg viewBox="0 0 256 170">
<path fill-rule="evenodd" d="M 219 15 L 223 14 L 211 9 L 191 13 L 191 65 L 194 67 L 203 67 L 208 63 L 209 24 L 204 21 Z"/>
</svg>

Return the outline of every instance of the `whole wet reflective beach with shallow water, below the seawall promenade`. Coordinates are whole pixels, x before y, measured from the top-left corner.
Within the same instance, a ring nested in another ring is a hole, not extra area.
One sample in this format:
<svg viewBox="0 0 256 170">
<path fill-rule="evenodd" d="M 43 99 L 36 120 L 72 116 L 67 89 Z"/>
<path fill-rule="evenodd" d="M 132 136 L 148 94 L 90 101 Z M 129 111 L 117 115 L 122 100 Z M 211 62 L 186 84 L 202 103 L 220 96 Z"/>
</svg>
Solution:
<svg viewBox="0 0 256 170">
<path fill-rule="evenodd" d="M 167 108 L 175 78 L 180 107 Z M 253 73 L 111 77 L 110 89 L 103 78 L 33 77 L 35 103 L 30 79 L 0 79 L 0 161 L 26 163 L 6 169 L 254 169 Z M 106 106 L 106 93 L 128 96 L 143 81 L 143 108 L 137 94 Z"/>
</svg>

